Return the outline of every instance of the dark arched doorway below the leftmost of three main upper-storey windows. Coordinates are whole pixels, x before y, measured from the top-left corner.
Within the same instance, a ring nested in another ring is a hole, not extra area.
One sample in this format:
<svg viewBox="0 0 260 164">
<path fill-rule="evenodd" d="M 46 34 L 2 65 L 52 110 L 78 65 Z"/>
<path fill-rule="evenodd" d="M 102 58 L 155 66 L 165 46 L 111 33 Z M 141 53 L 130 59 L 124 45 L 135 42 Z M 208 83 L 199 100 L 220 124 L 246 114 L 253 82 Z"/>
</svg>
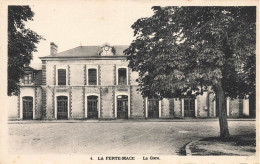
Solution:
<svg viewBox="0 0 260 164">
<path fill-rule="evenodd" d="M 68 119 L 68 97 L 57 97 L 57 119 Z"/>
</svg>

